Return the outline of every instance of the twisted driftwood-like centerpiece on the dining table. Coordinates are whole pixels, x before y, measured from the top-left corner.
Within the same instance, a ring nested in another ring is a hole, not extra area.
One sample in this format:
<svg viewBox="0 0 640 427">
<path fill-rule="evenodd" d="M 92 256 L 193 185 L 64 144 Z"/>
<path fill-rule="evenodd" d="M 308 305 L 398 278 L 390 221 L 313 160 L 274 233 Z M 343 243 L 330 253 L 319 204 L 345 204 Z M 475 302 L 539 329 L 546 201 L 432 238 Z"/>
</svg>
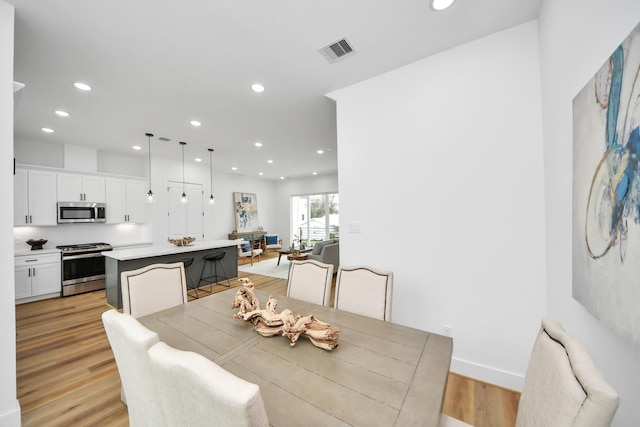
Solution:
<svg viewBox="0 0 640 427">
<path fill-rule="evenodd" d="M 296 345 L 300 335 L 304 335 L 316 347 L 333 350 L 338 346 L 340 329 L 322 322 L 313 315 L 293 315 L 291 310 L 285 309 L 278 313 L 278 301 L 269 296 L 264 309 L 260 309 L 260 301 L 253 293 L 254 284 L 246 277 L 239 279 L 244 286 L 236 292 L 231 308 L 239 311 L 233 315 L 234 319 L 253 324 L 253 330 L 264 337 L 282 335 L 291 340 L 291 346 Z"/>
</svg>

